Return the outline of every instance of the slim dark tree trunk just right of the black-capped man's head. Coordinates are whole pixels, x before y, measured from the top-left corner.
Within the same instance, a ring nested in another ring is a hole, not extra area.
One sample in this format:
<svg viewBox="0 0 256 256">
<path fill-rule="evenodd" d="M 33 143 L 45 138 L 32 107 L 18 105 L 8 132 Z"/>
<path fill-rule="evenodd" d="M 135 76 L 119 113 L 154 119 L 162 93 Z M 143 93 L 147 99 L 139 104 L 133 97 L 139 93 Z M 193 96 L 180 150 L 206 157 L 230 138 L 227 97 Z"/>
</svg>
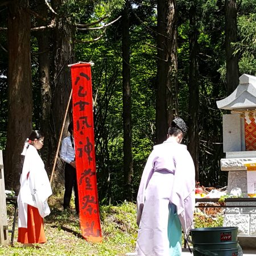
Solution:
<svg viewBox="0 0 256 256">
<path fill-rule="evenodd" d="M 196 180 L 199 180 L 199 82 L 197 39 L 199 31 L 196 22 L 196 6 L 192 3 L 189 9 L 189 121 L 188 121 L 188 151 L 190 152 L 196 170 Z"/>
</svg>

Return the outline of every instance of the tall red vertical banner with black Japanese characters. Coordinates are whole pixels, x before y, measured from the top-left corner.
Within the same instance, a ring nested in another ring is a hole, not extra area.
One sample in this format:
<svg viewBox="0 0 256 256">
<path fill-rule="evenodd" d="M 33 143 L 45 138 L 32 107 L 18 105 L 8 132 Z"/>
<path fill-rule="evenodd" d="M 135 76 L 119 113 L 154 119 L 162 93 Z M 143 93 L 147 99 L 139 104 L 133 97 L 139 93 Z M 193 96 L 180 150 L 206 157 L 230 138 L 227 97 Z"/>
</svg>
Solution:
<svg viewBox="0 0 256 256">
<path fill-rule="evenodd" d="M 71 79 L 80 226 L 87 241 L 101 242 L 90 64 L 72 65 Z"/>
</svg>

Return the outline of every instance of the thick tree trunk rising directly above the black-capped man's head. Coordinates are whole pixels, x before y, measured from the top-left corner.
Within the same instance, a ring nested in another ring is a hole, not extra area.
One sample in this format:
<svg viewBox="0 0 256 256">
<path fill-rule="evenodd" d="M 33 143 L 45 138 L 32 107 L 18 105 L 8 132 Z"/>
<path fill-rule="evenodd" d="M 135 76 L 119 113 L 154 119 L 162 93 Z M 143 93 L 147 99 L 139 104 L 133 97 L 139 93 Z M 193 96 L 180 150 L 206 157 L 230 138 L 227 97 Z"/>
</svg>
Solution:
<svg viewBox="0 0 256 256">
<path fill-rule="evenodd" d="M 168 127 L 177 115 L 176 23 L 176 1 L 158 0 L 156 144 L 166 140 Z"/>
</svg>

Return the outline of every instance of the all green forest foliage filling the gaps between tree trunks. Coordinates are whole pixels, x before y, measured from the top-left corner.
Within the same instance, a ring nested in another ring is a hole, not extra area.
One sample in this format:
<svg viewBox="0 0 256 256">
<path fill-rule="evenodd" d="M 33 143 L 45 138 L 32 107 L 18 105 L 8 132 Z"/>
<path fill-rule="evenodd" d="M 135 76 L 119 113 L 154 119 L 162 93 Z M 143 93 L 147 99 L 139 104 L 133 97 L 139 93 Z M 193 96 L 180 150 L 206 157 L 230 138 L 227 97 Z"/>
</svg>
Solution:
<svg viewBox="0 0 256 256">
<path fill-rule="evenodd" d="M 31 1 L 31 9 L 38 8 Z M 73 26 L 76 61 L 93 61 L 94 131 L 96 141 L 97 178 L 100 200 L 113 204 L 122 200 L 123 184 L 123 124 L 122 124 L 122 23 L 121 19 L 106 31 L 76 30 L 75 24 L 95 28 L 112 22 L 122 14 L 125 0 L 68 0 L 55 6 L 57 20 Z M 225 16 L 224 1 L 177 1 L 178 36 L 178 100 L 179 115 L 188 120 L 189 84 L 189 7 L 196 6 L 198 39 L 198 72 L 200 90 L 200 183 L 205 186 L 226 184 L 226 174 L 220 171 L 222 152 L 222 114 L 216 101 L 226 97 L 225 88 Z M 155 141 L 156 95 L 156 1 L 137 1 L 130 9 L 130 68 L 133 131 L 133 193 L 137 189 L 144 164 Z M 245 0 L 238 5 L 238 40 L 234 44 L 240 55 L 240 73 L 256 74 L 256 1 Z M 38 10 L 36 10 L 38 11 Z M 49 11 L 48 11 L 49 12 Z M 49 12 L 50 13 L 50 12 Z M 1 7 L 1 27 L 7 26 L 7 9 Z M 102 17 L 101 22 L 96 22 Z M 139 18 L 137 18 L 139 17 Z M 49 19 L 49 17 L 47 18 Z M 32 15 L 32 27 L 37 18 Z M 92 24 L 93 23 L 93 24 Z M 92 24 L 92 25 L 90 25 Z M 5 148 L 7 130 L 7 35 L 0 33 L 0 147 Z M 52 40 L 52 38 L 49 38 Z M 52 53 L 51 42 L 50 51 Z M 38 42 L 31 36 L 31 66 L 33 84 L 33 126 L 41 125 L 41 88 L 38 75 Z M 55 67 L 52 65 L 51 69 Z M 53 117 L 59 118 L 59 117 Z M 54 128 L 52 128 L 54 129 Z M 53 134 L 57 137 L 59 131 Z M 185 141 L 186 143 L 186 141 Z"/>
</svg>

